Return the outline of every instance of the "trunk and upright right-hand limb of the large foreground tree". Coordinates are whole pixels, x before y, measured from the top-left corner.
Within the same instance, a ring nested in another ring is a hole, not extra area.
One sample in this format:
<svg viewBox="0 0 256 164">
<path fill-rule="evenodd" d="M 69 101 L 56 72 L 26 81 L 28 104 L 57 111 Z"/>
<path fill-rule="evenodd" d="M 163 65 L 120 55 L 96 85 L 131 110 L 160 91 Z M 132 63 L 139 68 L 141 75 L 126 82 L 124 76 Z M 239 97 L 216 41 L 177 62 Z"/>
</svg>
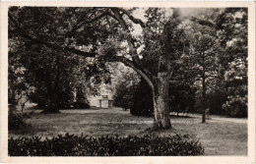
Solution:
<svg viewBox="0 0 256 164">
<path fill-rule="evenodd" d="M 163 54 L 159 58 L 159 73 L 157 81 L 154 82 L 153 89 L 153 103 L 154 103 L 154 123 L 158 129 L 170 129 L 169 118 L 169 80 L 171 77 L 170 57 L 173 53 L 173 47 L 171 46 L 171 23 L 166 23 L 163 28 Z"/>
</svg>

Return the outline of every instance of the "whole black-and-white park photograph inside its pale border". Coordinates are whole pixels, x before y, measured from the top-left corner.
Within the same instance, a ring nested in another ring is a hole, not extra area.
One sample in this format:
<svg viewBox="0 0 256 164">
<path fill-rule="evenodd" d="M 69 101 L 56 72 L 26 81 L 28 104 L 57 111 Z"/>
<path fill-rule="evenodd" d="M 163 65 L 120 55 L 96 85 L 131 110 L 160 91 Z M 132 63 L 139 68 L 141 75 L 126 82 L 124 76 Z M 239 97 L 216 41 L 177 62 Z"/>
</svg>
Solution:
<svg viewBox="0 0 256 164">
<path fill-rule="evenodd" d="M 9 6 L 8 157 L 248 157 L 248 15 Z"/>
</svg>

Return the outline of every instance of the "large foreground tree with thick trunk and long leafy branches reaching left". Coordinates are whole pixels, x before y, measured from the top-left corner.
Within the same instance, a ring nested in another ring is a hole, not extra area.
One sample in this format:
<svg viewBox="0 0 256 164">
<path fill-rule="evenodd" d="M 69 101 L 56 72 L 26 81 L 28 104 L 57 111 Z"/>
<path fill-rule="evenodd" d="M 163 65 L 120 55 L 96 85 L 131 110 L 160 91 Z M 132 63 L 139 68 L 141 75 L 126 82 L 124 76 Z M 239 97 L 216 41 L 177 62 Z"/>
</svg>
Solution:
<svg viewBox="0 0 256 164">
<path fill-rule="evenodd" d="M 168 86 L 171 77 L 170 58 L 175 51 L 173 29 L 177 27 L 177 10 L 162 25 L 157 73 L 144 67 L 138 52 L 143 39 L 132 34 L 133 25 L 145 33 L 147 26 L 122 8 L 11 8 L 9 33 L 31 44 L 105 62 L 122 62 L 134 69 L 151 87 L 155 108 L 155 126 L 170 128 Z M 116 44 L 115 44 L 116 43 Z M 121 43 L 121 44 L 120 44 Z M 122 45 L 123 43 L 123 45 Z M 89 47 L 90 46 L 90 47 Z M 89 47 L 89 48 L 85 48 Z M 124 51 L 124 52 L 122 52 Z"/>
</svg>

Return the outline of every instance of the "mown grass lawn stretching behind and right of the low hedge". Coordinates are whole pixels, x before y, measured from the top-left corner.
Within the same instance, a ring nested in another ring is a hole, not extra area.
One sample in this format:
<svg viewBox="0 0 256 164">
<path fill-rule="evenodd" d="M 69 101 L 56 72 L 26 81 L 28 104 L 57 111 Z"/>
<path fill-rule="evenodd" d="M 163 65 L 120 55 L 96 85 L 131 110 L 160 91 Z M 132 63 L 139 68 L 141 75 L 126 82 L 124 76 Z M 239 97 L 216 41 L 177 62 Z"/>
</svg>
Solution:
<svg viewBox="0 0 256 164">
<path fill-rule="evenodd" d="M 31 112 L 27 110 L 26 112 Z M 153 131 L 153 118 L 137 117 L 120 108 L 99 110 L 62 110 L 60 114 L 41 114 L 34 110 L 27 120 L 32 128 L 9 131 L 9 137 L 52 137 L 76 134 L 89 137 L 105 135 L 143 136 L 189 134 L 197 137 L 205 147 L 206 155 L 247 155 L 247 124 L 224 120 L 171 117 L 171 130 Z"/>
</svg>

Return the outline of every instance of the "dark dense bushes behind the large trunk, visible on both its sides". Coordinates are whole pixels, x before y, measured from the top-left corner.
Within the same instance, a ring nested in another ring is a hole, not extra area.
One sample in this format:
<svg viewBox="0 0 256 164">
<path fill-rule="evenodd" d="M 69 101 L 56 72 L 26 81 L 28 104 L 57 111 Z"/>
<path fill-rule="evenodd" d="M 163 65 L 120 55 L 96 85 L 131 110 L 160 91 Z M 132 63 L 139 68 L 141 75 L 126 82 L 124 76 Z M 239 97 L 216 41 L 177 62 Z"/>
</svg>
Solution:
<svg viewBox="0 0 256 164">
<path fill-rule="evenodd" d="M 169 88 L 170 112 L 187 114 L 195 112 L 194 87 L 180 83 L 172 83 Z M 141 81 L 132 85 L 120 82 L 113 96 L 114 105 L 130 109 L 135 116 L 153 116 L 152 91 L 146 82 Z"/>
</svg>

